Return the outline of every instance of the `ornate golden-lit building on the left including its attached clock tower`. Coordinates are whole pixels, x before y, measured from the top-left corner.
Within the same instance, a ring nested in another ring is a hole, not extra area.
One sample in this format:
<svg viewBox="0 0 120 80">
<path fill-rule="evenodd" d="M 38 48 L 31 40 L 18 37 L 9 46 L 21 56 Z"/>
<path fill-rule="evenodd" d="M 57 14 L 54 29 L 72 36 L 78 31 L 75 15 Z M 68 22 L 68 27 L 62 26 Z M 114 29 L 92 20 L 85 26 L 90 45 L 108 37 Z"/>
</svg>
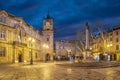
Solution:
<svg viewBox="0 0 120 80">
<path fill-rule="evenodd" d="M 49 15 L 40 32 L 21 17 L 0 11 L 0 63 L 53 60 L 53 43 L 53 19 Z"/>
</svg>

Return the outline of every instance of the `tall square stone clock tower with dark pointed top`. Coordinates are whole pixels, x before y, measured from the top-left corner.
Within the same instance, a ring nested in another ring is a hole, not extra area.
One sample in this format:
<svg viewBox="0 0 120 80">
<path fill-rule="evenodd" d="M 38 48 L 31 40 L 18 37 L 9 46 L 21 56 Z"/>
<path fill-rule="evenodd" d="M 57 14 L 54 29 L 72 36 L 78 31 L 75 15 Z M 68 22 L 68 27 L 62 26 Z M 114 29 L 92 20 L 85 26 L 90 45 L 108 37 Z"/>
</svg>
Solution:
<svg viewBox="0 0 120 80">
<path fill-rule="evenodd" d="M 53 60 L 54 56 L 54 29 L 53 29 L 53 18 L 47 15 L 43 20 L 43 54 L 45 61 Z"/>
</svg>

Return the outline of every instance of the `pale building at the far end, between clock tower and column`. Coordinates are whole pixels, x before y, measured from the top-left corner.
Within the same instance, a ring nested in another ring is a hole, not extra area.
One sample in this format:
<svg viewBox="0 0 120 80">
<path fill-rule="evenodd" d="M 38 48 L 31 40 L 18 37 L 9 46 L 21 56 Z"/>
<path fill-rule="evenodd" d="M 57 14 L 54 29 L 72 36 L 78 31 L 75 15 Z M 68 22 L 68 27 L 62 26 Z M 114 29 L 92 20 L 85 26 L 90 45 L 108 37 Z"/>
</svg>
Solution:
<svg viewBox="0 0 120 80">
<path fill-rule="evenodd" d="M 77 49 L 77 40 L 56 41 L 56 57 L 65 60 L 69 56 L 80 56 L 80 51 Z"/>
</svg>

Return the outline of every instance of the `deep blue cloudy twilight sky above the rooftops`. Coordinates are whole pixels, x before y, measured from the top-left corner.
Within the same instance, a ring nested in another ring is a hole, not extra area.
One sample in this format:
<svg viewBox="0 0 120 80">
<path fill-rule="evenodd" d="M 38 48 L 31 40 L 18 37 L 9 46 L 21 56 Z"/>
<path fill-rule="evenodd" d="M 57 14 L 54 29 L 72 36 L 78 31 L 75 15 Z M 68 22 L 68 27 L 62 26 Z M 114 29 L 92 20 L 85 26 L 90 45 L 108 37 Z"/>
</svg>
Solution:
<svg viewBox="0 0 120 80">
<path fill-rule="evenodd" d="M 23 17 L 39 30 L 49 11 L 55 22 L 55 39 L 74 39 L 86 21 L 90 27 L 120 24 L 120 0 L 0 0 L 0 10 Z"/>
</svg>

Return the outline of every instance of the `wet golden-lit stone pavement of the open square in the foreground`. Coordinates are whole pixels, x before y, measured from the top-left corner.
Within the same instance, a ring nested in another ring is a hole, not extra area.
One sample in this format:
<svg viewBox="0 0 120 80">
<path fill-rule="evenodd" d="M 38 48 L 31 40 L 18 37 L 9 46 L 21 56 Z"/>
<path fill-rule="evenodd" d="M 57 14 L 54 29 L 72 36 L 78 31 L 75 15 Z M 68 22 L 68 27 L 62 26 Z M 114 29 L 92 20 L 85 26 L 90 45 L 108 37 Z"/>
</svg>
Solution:
<svg viewBox="0 0 120 80">
<path fill-rule="evenodd" d="M 0 80 L 120 80 L 120 67 L 82 69 L 55 63 L 0 64 Z"/>
</svg>

